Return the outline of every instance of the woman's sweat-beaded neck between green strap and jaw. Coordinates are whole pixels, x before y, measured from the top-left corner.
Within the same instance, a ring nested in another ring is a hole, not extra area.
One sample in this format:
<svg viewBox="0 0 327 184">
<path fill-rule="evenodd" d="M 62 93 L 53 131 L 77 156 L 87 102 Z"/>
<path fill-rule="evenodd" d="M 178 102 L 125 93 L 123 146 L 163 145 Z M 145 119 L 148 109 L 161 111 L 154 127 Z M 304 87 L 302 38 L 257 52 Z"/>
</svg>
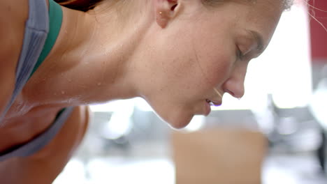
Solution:
<svg viewBox="0 0 327 184">
<path fill-rule="evenodd" d="M 87 13 L 63 9 L 61 32 L 43 64 L 46 69 L 36 72 L 29 85 L 31 93 L 44 94 L 38 104 L 80 105 L 138 96 L 131 58 L 150 25 L 144 19 L 150 16 L 143 14 L 150 12 L 137 2 L 145 11 L 124 17 L 115 8 L 104 10 L 106 4 Z"/>
</svg>

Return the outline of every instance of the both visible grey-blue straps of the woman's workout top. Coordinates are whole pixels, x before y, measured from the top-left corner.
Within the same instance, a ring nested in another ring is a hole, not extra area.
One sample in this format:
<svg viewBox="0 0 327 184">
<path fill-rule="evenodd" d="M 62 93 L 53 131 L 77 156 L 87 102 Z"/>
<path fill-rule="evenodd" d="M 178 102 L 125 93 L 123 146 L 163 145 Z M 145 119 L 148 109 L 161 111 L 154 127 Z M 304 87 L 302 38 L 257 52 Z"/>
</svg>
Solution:
<svg viewBox="0 0 327 184">
<path fill-rule="evenodd" d="M 48 6 L 46 0 L 29 0 L 29 18 L 25 25 L 24 43 L 20 53 L 20 59 L 16 68 L 16 84 L 10 102 L 6 106 L 6 110 L 0 116 L 0 128 L 3 125 L 3 117 L 8 109 L 15 101 L 16 96 L 22 91 L 22 88 L 27 83 L 38 56 L 41 54 L 45 38 L 49 31 Z M 3 153 L 0 153 L 0 162 L 9 158 L 27 157 L 40 151 L 44 146 L 54 139 L 59 130 L 61 130 L 67 118 L 73 111 L 73 107 L 67 107 L 61 111 L 56 120 L 50 127 L 40 135 L 23 145 L 18 145 L 10 148 Z M 1 182 L 0 182 L 1 183 Z"/>
</svg>

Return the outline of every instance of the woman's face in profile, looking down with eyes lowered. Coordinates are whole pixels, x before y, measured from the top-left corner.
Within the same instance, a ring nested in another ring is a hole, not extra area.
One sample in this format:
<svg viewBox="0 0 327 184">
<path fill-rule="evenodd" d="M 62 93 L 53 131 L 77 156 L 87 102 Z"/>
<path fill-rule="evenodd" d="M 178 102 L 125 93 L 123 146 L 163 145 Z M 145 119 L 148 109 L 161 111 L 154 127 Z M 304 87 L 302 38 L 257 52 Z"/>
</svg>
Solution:
<svg viewBox="0 0 327 184">
<path fill-rule="evenodd" d="M 273 36 L 282 1 L 177 1 L 172 11 L 166 26 L 152 26 L 143 40 L 140 95 L 182 128 L 194 115 L 208 115 L 208 100 L 221 103 L 214 88 L 242 97 L 247 65 Z"/>
</svg>

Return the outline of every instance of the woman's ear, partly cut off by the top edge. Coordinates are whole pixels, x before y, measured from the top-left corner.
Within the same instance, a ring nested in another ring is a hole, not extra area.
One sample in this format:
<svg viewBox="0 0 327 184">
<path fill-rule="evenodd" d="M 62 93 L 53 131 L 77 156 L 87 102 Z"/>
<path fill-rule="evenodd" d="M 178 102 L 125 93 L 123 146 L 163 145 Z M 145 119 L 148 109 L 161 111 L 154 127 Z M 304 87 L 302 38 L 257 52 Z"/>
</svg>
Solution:
<svg viewBox="0 0 327 184">
<path fill-rule="evenodd" d="M 177 14 L 180 0 L 154 0 L 154 13 L 157 24 L 165 28 Z"/>
</svg>

